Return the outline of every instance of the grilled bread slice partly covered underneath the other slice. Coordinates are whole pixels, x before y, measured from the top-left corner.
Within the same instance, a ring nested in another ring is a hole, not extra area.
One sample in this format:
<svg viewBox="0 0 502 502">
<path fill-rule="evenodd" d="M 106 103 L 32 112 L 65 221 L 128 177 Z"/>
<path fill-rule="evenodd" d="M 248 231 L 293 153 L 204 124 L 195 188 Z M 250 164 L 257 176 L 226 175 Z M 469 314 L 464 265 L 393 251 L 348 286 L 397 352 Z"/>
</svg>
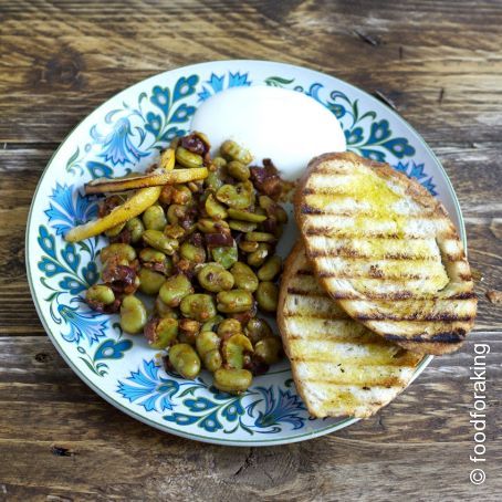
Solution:
<svg viewBox="0 0 502 502">
<path fill-rule="evenodd" d="M 310 414 L 375 414 L 409 384 L 422 356 L 385 341 L 336 305 L 318 284 L 303 244 L 284 270 L 278 324 Z"/>
</svg>

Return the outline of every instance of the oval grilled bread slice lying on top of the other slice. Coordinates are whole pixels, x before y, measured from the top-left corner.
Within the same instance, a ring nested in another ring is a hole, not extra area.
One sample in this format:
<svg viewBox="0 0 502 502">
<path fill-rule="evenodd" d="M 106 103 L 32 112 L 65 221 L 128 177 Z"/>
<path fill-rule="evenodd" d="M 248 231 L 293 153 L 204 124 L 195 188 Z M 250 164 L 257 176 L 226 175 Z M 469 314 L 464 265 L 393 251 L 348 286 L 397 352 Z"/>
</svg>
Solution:
<svg viewBox="0 0 502 502">
<path fill-rule="evenodd" d="M 300 182 L 295 211 L 322 285 L 354 320 L 420 354 L 460 347 L 475 316 L 471 272 L 423 187 L 387 164 L 325 154 Z"/>
</svg>

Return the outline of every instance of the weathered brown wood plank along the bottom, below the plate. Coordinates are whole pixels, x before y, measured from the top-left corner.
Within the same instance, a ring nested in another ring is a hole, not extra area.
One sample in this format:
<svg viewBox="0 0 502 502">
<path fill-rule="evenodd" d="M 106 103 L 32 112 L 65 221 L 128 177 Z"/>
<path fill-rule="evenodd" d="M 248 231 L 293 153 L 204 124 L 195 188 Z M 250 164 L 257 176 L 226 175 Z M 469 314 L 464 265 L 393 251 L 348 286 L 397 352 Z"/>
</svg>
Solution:
<svg viewBox="0 0 502 502">
<path fill-rule="evenodd" d="M 489 493 L 496 493 L 502 489 L 496 475 L 502 460 L 496 440 L 502 369 L 493 363 L 501 357 L 502 336 L 480 333 L 475 338 L 491 346 L 487 474 Z M 393 487 L 400 498 L 467 500 L 483 493 L 468 480 L 473 433 L 468 367 L 473 343 L 436 358 L 375 418 L 305 443 L 234 449 L 150 429 L 108 406 L 65 370 L 48 339 L 3 338 L 0 483 L 12 496 L 79 500 L 171 500 L 180 494 L 229 501 L 243 494 L 270 501 L 368 500 L 369 494 L 373 500 L 386 495 L 394 500 Z M 3 360 L 9 362 L 7 367 Z M 52 454 L 54 445 L 67 448 L 71 456 Z M 27 466 L 29 477 L 23 473 Z M 127 475 L 118 475 L 117 466 Z"/>
</svg>

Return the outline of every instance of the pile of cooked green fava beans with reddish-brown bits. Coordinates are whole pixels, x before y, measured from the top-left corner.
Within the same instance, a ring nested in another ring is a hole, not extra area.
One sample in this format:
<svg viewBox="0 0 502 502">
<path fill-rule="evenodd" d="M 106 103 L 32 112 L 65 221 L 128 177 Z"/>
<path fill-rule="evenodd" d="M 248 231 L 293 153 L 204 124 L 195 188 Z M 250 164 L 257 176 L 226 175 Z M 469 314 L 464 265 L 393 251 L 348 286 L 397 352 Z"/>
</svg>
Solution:
<svg viewBox="0 0 502 502">
<path fill-rule="evenodd" d="M 168 155 L 171 172 L 206 167 L 207 177 L 164 185 L 143 213 L 105 232 L 112 243 L 100 255 L 103 284 L 87 290 L 86 302 L 119 312 L 124 332 L 168 349 L 169 370 L 191 379 L 205 367 L 218 389 L 242 393 L 282 356 L 281 339 L 257 316 L 278 304 L 282 261 L 274 250 L 287 221 L 278 203 L 282 180 L 270 161 L 250 167 L 250 153 L 234 142 L 211 159 L 199 133 L 176 139 L 160 166 Z M 100 216 L 126 199 L 108 195 Z M 153 315 L 136 292 L 156 296 Z"/>
</svg>

